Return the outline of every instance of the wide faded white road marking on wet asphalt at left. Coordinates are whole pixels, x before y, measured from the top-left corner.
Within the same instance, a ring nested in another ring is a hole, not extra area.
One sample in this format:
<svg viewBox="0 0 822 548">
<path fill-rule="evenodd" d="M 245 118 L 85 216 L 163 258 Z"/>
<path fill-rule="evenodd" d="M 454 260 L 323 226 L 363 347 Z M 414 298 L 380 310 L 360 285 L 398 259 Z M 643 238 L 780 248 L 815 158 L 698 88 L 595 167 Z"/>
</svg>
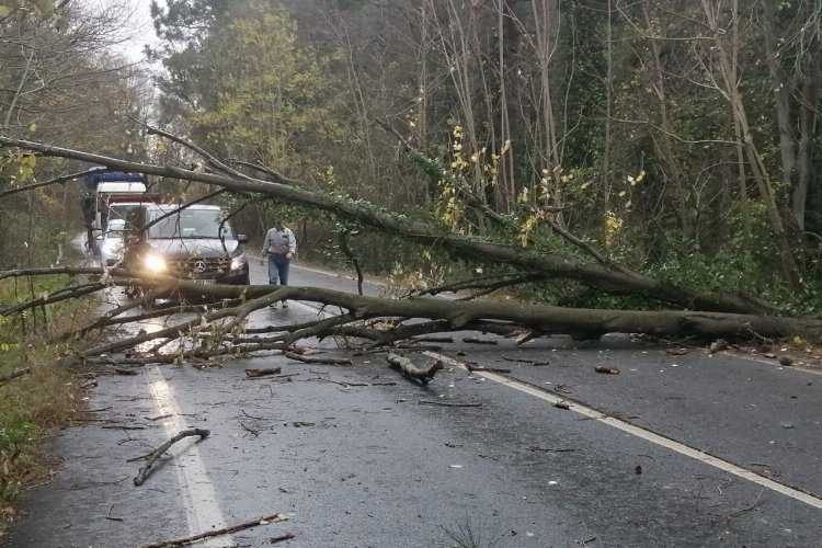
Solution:
<svg viewBox="0 0 822 548">
<path fill-rule="evenodd" d="M 149 366 L 146 373 L 149 377 L 149 389 L 155 398 L 158 413 L 171 415 L 162 421 L 165 434 L 172 437 L 180 431 L 186 430 L 186 424 L 181 419 L 182 411 L 174 399 L 174 391 L 165 383 L 160 368 Z M 183 507 L 186 512 L 189 533 L 198 535 L 226 527 L 226 520 L 217 503 L 217 493 L 208 480 L 205 466 L 203 466 L 196 438 L 191 437 L 181 441 L 169 449 L 169 454 L 173 455 L 174 460 L 169 463 L 168 466 L 176 470 L 180 492 L 184 499 Z M 212 539 L 197 546 L 217 547 L 227 545 L 233 545 L 230 535 L 222 535 L 219 539 Z"/>
</svg>

